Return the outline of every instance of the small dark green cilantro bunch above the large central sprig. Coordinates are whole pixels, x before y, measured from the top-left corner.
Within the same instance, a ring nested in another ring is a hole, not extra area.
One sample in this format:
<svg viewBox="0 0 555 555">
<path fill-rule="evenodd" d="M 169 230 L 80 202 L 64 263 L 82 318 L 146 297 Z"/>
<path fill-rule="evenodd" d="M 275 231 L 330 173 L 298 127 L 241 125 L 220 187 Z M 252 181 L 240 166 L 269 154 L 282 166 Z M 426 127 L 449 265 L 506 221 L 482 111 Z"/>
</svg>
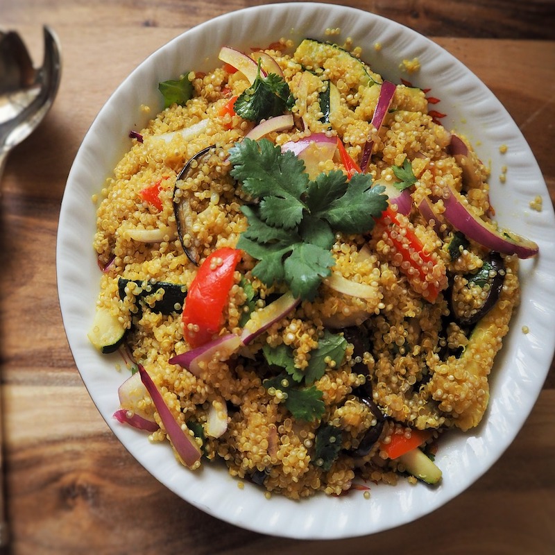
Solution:
<svg viewBox="0 0 555 555">
<path fill-rule="evenodd" d="M 295 98 L 287 81 L 276 74 L 262 76 L 259 60 L 255 82 L 239 95 L 234 103 L 234 110 L 243 119 L 260 123 L 262 119 L 280 116 L 291 110 L 293 105 Z"/>
</svg>

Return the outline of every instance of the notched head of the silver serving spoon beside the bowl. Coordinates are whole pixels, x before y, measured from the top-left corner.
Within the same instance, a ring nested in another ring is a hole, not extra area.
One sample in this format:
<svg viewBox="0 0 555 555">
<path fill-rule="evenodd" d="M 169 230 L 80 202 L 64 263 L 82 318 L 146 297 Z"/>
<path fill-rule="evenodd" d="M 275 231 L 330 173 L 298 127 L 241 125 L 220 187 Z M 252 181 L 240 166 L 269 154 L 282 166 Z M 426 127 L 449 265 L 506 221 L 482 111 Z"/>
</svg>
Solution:
<svg viewBox="0 0 555 555">
<path fill-rule="evenodd" d="M 42 121 L 60 85 L 60 43 L 44 26 L 44 60 L 35 69 L 21 37 L 0 31 L 0 176 L 10 150 Z"/>
</svg>

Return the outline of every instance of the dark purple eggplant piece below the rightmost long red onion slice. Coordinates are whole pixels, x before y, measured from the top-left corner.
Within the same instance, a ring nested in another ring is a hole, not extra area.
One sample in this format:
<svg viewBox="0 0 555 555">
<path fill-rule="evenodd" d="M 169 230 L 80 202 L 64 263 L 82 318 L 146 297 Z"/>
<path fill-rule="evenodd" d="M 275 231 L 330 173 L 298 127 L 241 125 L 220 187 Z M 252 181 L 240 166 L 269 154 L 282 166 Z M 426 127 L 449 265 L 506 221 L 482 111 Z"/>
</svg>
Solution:
<svg viewBox="0 0 555 555">
<path fill-rule="evenodd" d="M 459 323 L 459 325 L 466 327 L 475 325 L 475 323 L 481 320 L 481 318 L 484 318 L 484 316 L 486 316 L 486 314 L 493 309 L 497 300 L 499 300 L 499 295 L 505 281 L 505 263 L 502 256 L 499 253 L 490 253 L 484 260 L 484 265 L 479 269 L 479 271 L 473 274 L 468 274 L 465 278 L 469 284 L 474 284 L 481 288 L 484 288 L 486 285 L 489 286 L 486 300 L 484 300 L 481 307 L 474 311 L 470 316 L 464 316 L 460 313 L 456 303 L 454 288 L 452 288 L 450 304 L 454 320 Z"/>
</svg>

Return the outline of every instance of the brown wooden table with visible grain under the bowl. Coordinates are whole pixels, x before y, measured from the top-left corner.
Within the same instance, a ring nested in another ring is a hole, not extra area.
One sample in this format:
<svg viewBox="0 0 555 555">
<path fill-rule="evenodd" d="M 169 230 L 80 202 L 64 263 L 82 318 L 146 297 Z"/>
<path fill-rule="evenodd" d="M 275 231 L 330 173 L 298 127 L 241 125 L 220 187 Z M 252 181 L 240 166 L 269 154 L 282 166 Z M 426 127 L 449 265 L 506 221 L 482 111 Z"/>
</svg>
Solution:
<svg viewBox="0 0 555 555">
<path fill-rule="evenodd" d="M 173 495 L 126 452 L 71 357 L 56 291 L 56 230 L 67 173 L 115 87 L 149 53 L 200 22 L 264 2 L 0 0 L 0 26 L 42 56 L 57 31 L 62 85 L 2 179 L 0 349 L 13 554 L 555 552 L 555 371 L 501 459 L 447 506 L 399 529 L 329 542 L 262 536 Z M 552 0 L 351 1 L 407 24 L 464 62 L 504 103 L 555 200 L 555 5 Z M 506 19 L 505 19 L 506 17 Z M 85 247 L 84 247 L 85 248 Z"/>
</svg>

